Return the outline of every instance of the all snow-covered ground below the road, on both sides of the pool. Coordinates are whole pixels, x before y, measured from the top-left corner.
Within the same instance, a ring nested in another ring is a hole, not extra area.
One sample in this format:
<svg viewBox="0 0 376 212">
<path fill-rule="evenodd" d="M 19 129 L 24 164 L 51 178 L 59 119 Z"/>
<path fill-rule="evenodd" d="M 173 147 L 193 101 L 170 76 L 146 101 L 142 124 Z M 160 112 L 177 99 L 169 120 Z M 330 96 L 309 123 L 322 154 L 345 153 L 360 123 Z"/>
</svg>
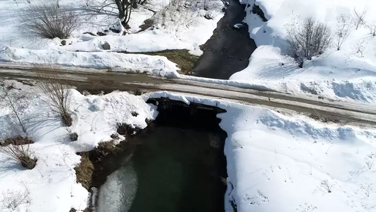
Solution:
<svg viewBox="0 0 376 212">
<path fill-rule="evenodd" d="M 32 99 L 23 116 L 29 120 L 26 128 L 35 141 L 30 146 L 38 162 L 33 170 L 25 170 L 0 153 L 0 211 L 7 211 L 2 200 L 17 195 L 23 199 L 15 209 L 18 212 L 85 209 L 88 192 L 76 183 L 73 168 L 80 156 L 75 153 L 109 140 L 118 122 L 145 127 L 145 119 L 152 120 L 158 114 L 145 100 L 161 96 L 227 110 L 218 115 L 222 119 L 220 127 L 228 134 L 227 212 L 232 212 L 235 205 L 238 212 L 307 212 L 310 205 L 318 212 L 376 211 L 376 192 L 372 190 L 376 156 L 369 157 L 376 153 L 375 129 L 324 124 L 293 112 L 277 113 L 223 99 L 169 92 L 84 96 L 73 90 L 71 129 L 79 137 L 70 142 L 60 118 L 45 105 L 46 96 L 36 87 L 19 83 L 14 86 L 28 91 Z M 133 117 L 132 111 L 139 115 Z M 4 124 L 9 109 L 1 107 L 0 113 Z M 8 135 L 4 129 L 1 127 L 3 137 Z M 322 184 L 325 181 L 330 193 Z M 134 189 L 137 183 L 132 186 Z M 112 203 L 116 205 L 117 200 Z"/>
</svg>

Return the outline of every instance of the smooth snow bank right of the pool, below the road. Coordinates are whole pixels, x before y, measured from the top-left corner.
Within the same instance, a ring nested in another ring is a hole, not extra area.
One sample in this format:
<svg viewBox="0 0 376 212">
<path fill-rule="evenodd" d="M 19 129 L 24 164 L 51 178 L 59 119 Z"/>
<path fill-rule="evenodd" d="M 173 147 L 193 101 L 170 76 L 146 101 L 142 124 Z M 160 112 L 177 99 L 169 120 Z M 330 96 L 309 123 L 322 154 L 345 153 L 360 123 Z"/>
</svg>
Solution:
<svg viewBox="0 0 376 212">
<path fill-rule="evenodd" d="M 376 179 L 376 167 L 367 165 L 373 160 L 368 156 L 376 153 L 375 129 L 327 125 L 266 108 L 168 92 L 150 96 L 227 110 L 218 114 L 228 134 L 227 212 L 233 212 L 231 202 L 237 212 L 308 212 L 311 205 L 322 212 L 375 212 L 375 192 L 369 190 L 370 197 L 366 193 Z M 323 180 L 328 180 L 330 193 Z"/>
</svg>

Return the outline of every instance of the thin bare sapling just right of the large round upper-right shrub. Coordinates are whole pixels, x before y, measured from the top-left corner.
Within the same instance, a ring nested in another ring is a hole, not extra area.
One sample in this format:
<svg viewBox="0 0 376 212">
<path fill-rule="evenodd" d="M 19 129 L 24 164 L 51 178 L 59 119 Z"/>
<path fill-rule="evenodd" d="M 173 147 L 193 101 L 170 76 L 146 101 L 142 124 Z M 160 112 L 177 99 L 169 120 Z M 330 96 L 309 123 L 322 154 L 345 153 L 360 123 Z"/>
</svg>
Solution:
<svg viewBox="0 0 376 212">
<path fill-rule="evenodd" d="M 335 32 L 337 39 L 337 50 L 340 49 L 343 42 L 349 37 L 353 26 L 353 19 L 347 14 L 337 16 L 337 30 Z"/>
</svg>

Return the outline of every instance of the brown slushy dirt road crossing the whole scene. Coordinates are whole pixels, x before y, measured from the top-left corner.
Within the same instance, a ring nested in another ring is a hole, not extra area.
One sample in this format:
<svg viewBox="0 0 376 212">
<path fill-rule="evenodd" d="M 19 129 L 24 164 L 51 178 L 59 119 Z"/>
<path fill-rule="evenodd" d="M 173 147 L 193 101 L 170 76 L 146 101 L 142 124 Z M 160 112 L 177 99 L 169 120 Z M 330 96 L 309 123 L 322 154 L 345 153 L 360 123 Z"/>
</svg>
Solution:
<svg viewBox="0 0 376 212">
<path fill-rule="evenodd" d="M 238 88 L 229 85 L 195 82 L 183 79 L 163 79 L 150 77 L 144 74 L 124 74 L 106 72 L 103 70 L 36 70 L 0 68 L 0 78 L 13 79 L 23 83 L 40 80 L 38 73 L 58 73 L 64 75 L 70 85 L 77 90 L 87 90 L 91 93 L 105 93 L 113 90 L 125 91 L 161 91 L 178 92 L 185 94 L 202 95 L 205 97 L 222 98 L 240 101 L 245 104 L 270 106 L 293 110 L 303 114 L 312 114 L 312 117 L 322 121 L 340 124 L 357 123 L 358 125 L 375 125 L 376 110 L 361 105 L 351 105 L 343 102 L 329 102 L 328 100 L 312 98 L 298 98 L 293 95 L 257 91 Z M 44 79 L 50 80 L 50 79 Z M 278 109 L 277 109 L 278 110 Z"/>
</svg>

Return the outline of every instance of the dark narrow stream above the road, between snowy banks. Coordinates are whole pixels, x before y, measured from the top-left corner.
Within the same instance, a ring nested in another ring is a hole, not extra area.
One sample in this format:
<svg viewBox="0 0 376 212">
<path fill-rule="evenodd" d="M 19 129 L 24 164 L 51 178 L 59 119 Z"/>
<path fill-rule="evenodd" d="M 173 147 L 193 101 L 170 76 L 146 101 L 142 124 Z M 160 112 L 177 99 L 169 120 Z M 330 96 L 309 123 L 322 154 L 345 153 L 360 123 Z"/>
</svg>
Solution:
<svg viewBox="0 0 376 212">
<path fill-rule="evenodd" d="M 228 80 L 231 75 L 248 66 L 248 60 L 256 49 L 249 38 L 248 26 L 234 29 L 242 23 L 246 13 L 245 5 L 237 0 L 229 0 L 225 16 L 218 22 L 213 36 L 201 46 L 204 53 L 193 69 L 195 76 Z"/>
</svg>

